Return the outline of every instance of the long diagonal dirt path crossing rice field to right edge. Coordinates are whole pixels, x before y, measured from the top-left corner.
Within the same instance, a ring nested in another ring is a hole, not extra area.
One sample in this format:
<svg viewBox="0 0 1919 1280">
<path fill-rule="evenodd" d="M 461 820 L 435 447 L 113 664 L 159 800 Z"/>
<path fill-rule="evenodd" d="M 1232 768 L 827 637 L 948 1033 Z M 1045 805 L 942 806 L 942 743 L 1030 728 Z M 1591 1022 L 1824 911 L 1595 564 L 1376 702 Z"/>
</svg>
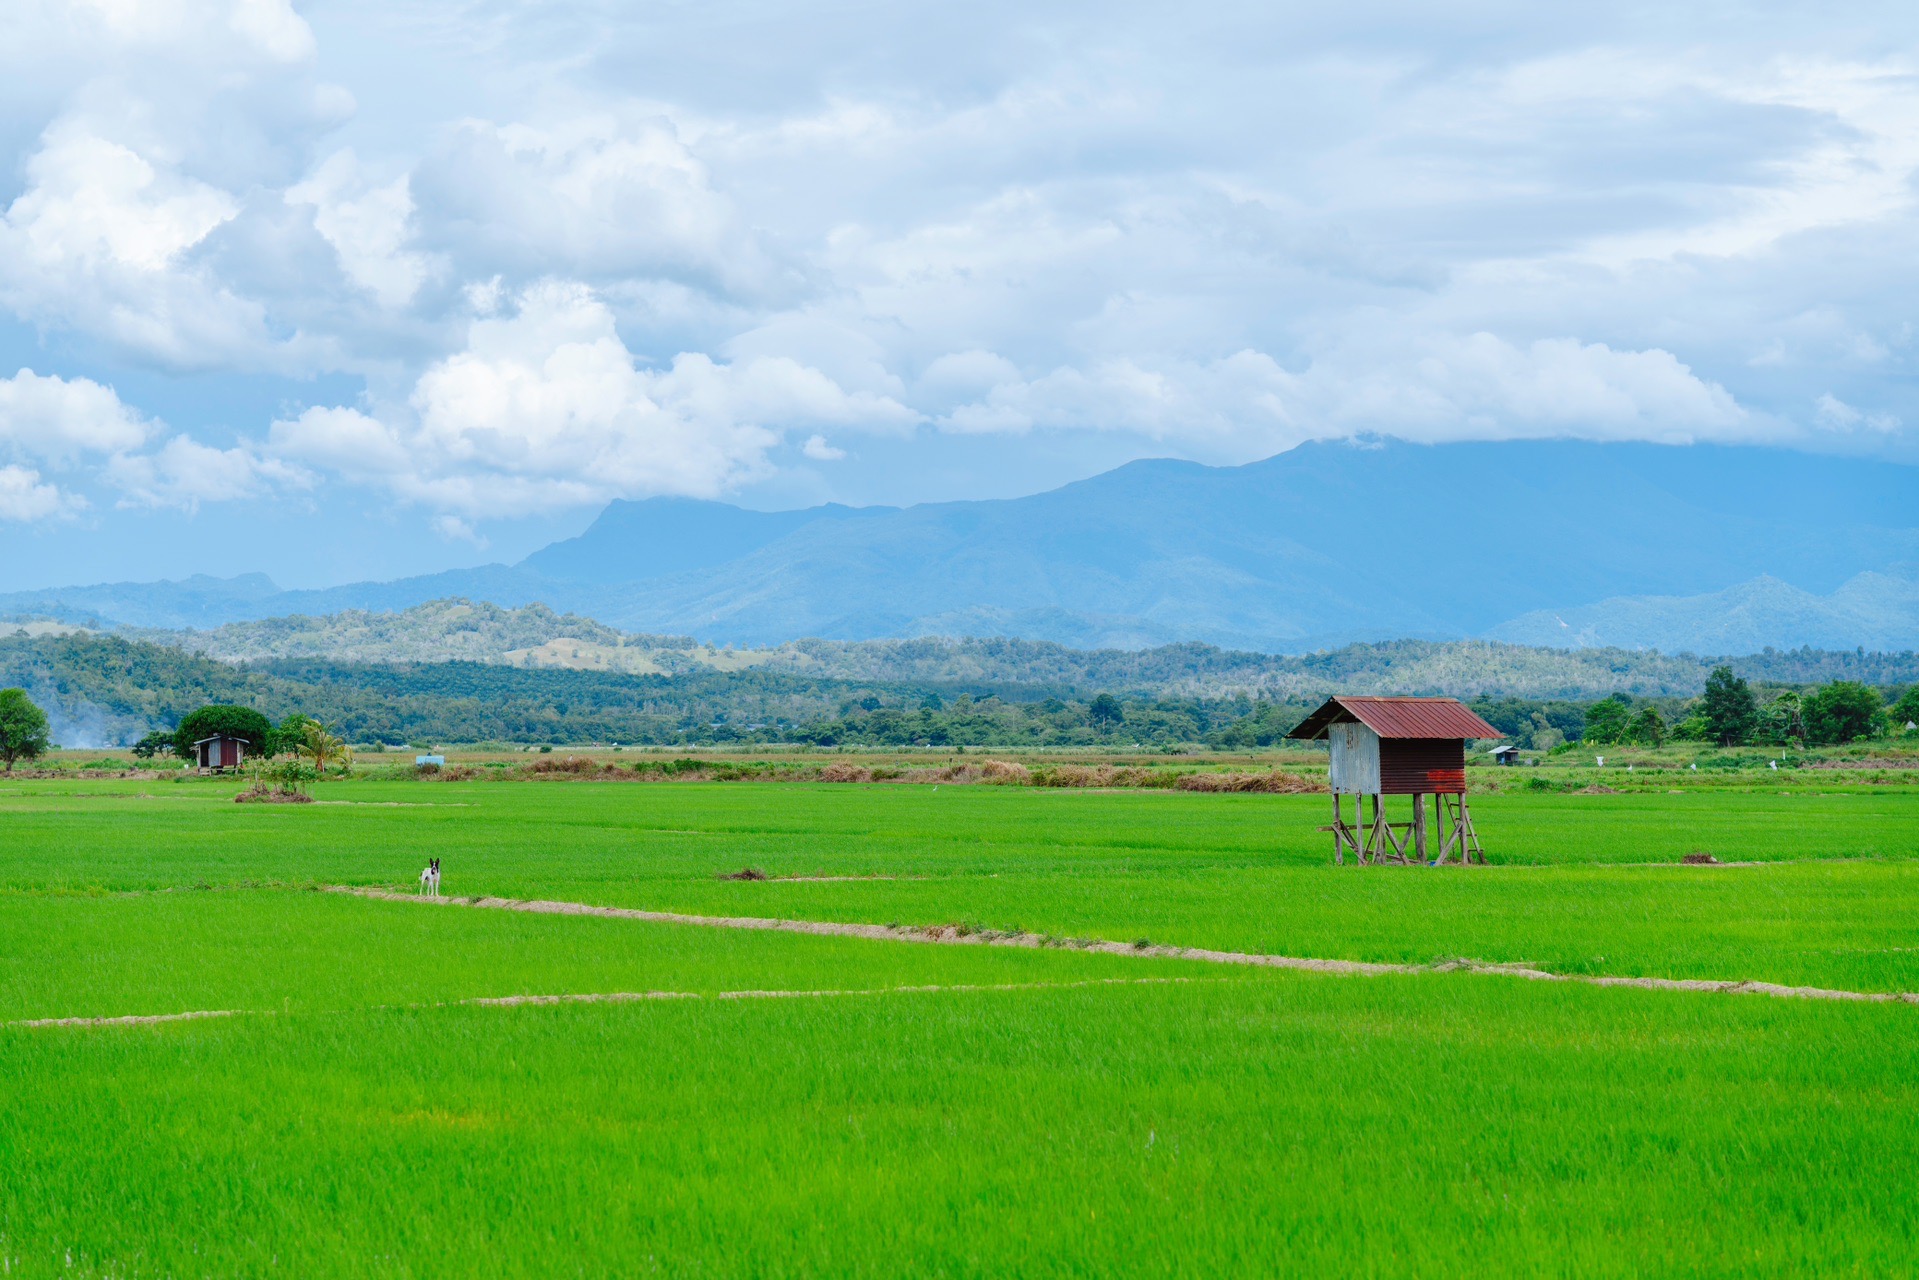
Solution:
<svg viewBox="0 0 1919 1280">
<path fill-rule="evenodd" d="M 1311 956 L 1267 956 L 1259 952 L 1215 952 L 1197 946 L 1155 946 L 1140 942 L 1111 942 L 1105 938 L 1054 938 L 1038 933 L 971 931 L 960 925 L 850 925 L 816 919 L 770 919 L 760 915 L 687 915 L 681 912 L 643 912 L 626 906 L 591 906 L 585 902 L 549 902 L 522 898 L 426 898 L 420 894 L 370 889 L 361 885 L 326 885 L 326 892 L 378 898 L 382 902 L 413 902 L 418 906 L 466 906 L 495 912 L 532 912 L 535 915 L 599 915 L 604 919 L 643 919 L 662 925 L 702 925 L 706 929 L 764 929 L 771 933 L 810 933 L 831 938 L 873 938 L 881 942 L 938 942 L 948 946 L 1057 946 L 1102 956 L 1136 956 L 1149 960 L 1197 960 L 1220 965 L 1257 965 L 1267 969 L 1303 969 L 1307 973 L 1338 973 L 1372 977 L 1382 973 L 1497 973 L 1533 983 L 1583 983 L 1587 986 L 1639 986 L 1645 990 L 1689 990 L 1729 996 L 1773 996 L 1779 1000 L 1860 1000 L 1869 1004 L 1919 1004 L 1915 992 L 1833 990 L 1827 986 L 1783 986 L 1779 983 L 1742 983 L 1712 979 L 1648 979 L 1608 977 L 1589 973 L 1549 973 L 1528 965 L 1501 965 L 1480 960 L 1449 960 L 1433 965 L 1376 963 L 1368 960 L 1318 960 Z"/>
</svg>

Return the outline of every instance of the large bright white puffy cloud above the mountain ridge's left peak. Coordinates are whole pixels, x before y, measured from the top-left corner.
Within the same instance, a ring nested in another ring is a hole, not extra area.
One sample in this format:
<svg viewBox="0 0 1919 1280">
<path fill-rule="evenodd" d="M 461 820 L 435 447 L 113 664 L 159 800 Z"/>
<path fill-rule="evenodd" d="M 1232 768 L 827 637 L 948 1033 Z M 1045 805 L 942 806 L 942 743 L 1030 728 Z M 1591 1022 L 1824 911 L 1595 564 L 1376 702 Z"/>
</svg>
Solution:
<svg viewBox="0 0 1919 1280">
<path fill-rule="evenodd" d="M 687 493 L 712 497 L 766 470 L 783 432 L 887 426 L 904 405 L 846 391 L 796 361 L 722 365 L 679 355 L 643 368 L 589 288 L 547 280 L 510 317 L 418 380 L 411 416 L 309 409 L 274 422 L 278 457 L 462 516 Z"/>
</svg>

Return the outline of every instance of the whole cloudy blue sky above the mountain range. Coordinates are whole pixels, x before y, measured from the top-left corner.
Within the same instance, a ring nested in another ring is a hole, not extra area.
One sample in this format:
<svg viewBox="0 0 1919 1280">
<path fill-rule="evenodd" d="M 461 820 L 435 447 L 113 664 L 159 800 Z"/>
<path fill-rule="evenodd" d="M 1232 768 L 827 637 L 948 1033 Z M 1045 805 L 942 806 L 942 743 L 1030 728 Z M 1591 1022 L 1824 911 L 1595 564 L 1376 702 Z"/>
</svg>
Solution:
<svg viewBox="0 0 1919 1280">
<path fill-rule="evenodd" d="M 8 0 L 0 589 L 1307 439 L 1919 461 L 1919 10 Z"/>
</svg>

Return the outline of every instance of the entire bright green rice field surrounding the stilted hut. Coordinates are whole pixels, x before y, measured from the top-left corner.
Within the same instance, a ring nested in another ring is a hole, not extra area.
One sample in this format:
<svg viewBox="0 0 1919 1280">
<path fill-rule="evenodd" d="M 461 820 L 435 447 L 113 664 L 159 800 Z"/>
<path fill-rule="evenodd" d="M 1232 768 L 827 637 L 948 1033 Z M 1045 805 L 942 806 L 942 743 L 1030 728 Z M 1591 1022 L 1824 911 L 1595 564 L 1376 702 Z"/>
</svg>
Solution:
<svg viewBox="0 0 1919 1280">
<path fill-rule="evenodd" d="M 1324 796 L 236 789 L 0 783 L 0 1274 L 1915 1268 L 1919 1004 L 1451 965 L 1919 992 L 1913 787 L 1485 794 L 1470 869 L 1334 867 Z M 320 892 L 428 856 L 1063 944 Z"/>
</svg>

